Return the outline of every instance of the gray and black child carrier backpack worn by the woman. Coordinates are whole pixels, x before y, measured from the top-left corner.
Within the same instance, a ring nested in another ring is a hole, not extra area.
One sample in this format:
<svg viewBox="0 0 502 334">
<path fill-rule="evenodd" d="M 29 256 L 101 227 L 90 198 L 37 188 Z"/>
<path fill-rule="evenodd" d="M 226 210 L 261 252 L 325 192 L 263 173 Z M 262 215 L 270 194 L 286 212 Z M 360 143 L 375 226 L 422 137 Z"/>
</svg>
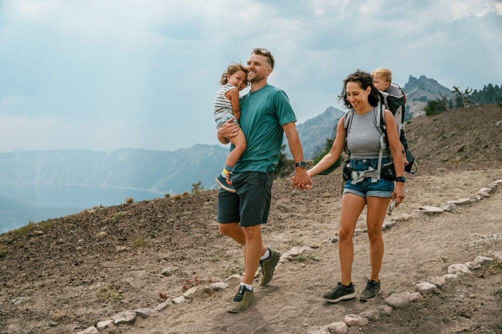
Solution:
<svg viewBox="0 0 502 334">
<path fill-rule="evenodd" d="M 397 85 L 395 85 L 397 86 Z M 397 86 L 399 88 L 399 86 Z M 400 89 L 400 88 L 399 88 Z M 402 91 L 401 91 L 402 92 Z M 356 184 L 362 182 L 364 178 L 371 178 L 371 182 L 377 182 L 381 178 L 384 180 L 394 181 L 396 179 L 396 170 L 394 168 L 394 162 L 392 161 L 392 154 L 390 151 L 389 139 L 387 138 L 387 124 L 385 122 L 385 108 L 387 107 L 393 115 L 398 114 L 396 117 L 396 126 L 398 127 L 399 139 L 403 144 L 406 153 L 406 160 L 408 160 L 408 165 L 405 166 L 405 171 L 411 174 L 415 174 L 418 170 L 417 163 L 413 154 L 408 147 L 408 142 L 406 139 L 406 133 L 403 128 L 403 120 L 404 120 L 404 112 L 405 112 L 405 102 L 406 97 L 404 94 L 400 96 L 391 95 L 389 93 L 380 92 L 379 93 L 379 102 L 376 106 L 375 117 L 373 122 L 376 128 L 379 130 L 380 137 L 380 152 L 379 152 L 379 160 L 377 169 L 370 168 L 369 170 L 362 172 L 352 171 L 350 167 L 350 151 L 347 148 L 347 136 L 345 135 L 345 147 L 344 151 L 347 154 L 347 159 L 343 163 L 342 173 L 343 180 L 347 181 L 352 179 L 352 183 Z M 345 134 L 348 133 L 348 129 L 352 123 L 352 117 L 354 115 L 354 110 L 351 109 L 345 113 L 343 127 L 345 128 Z M 399 131 L 401 130 L 401 131 Z M 384 152 L 387 153 L 390 158 L 390 162 L 387 164 L 382 164 L 382 158 Z M 343 191 L 343 190 L 342 190 Z"/>
</svg>

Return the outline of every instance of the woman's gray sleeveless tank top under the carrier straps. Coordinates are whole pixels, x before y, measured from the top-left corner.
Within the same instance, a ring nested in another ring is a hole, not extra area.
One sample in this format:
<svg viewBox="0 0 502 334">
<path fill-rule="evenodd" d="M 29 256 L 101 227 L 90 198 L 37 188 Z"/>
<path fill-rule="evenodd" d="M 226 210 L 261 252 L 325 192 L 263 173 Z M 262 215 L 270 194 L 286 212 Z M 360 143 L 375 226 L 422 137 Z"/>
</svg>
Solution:
<svg viewBox="0 0 502 334">
<path fill-rule="evenodd" d="M 351 159 L 373 159 L 380 154 L 380 131 L 375 125 L 376 109 L 368 111 L 364 115 L 352 115 L 347 133 L 347 148 Z M 384 152 L 387 158 L 387 152 Z"/>
</svg>

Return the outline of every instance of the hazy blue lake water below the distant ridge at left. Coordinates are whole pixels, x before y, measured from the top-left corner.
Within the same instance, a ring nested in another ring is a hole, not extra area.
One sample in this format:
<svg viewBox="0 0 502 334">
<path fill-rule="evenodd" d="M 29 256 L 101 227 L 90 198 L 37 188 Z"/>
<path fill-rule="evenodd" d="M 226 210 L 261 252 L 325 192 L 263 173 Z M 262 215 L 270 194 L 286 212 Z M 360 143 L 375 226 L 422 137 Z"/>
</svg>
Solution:
<svg viewBox="0 0 502 334">
<path fill-rule="evenodd" d="M 156 192 L 74 185 L 0 185 L 0 233 L 37 222 L 80 212 L 96 205 L 117 205 L 127 197 L 135 201 L 163 197 Z"/>
</svg>

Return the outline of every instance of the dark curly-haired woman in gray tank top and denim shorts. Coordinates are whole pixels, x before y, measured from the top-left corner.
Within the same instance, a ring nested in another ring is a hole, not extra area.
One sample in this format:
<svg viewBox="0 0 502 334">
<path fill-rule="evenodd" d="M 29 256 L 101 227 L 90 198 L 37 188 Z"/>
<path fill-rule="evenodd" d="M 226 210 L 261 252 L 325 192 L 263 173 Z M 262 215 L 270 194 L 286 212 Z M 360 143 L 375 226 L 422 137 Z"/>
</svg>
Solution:
<svg viewBox="0 0 502 334">
<path fill-rule="evenodd" d="M 355 224 L 364 205 L 367 205 L 366 224 L 369 238 L 369 256 L 371 275 L 366 280 L 366 287 L 359 295 L 359 300 L 366 301 L 376 297 L 381 292 L 379 273 L 384 256 L 384 240 L 382 238 L 382 225 L 387 207 L 391 198 L 397 200 L 396 207 L 405 198 L 404 191 L 404 161 L 401 152 L 398 130 L 396 126 L 387 126 L 387 138 L 392 154 L 396 185 L 394 181 L 380 178 L 376 181 L 375 172 L 378 169 L 378 160 L 381 150 L 381 132 L 376 126 L 376 106 L 379 102 L 378 90 L 373 86 L 369 73 L 357 70 L 343 80 L 343 89 L 339 100 L 343 108 L 353 110 L 350 126 L 347 132 L 344 127 L 344 117 L 338 122 L 336 138 L 331 151 L 326 154 L 308 174 L 312 177 L 330 167 L 340 156 L 345 147 L 345 139 L 350 152 L 350 168 L 352 171 L 368 171 L 367 175 L 358 179 L 358 175 L 351 173 L 343 190 L 342 207 L 340 213 L 340 230 L 338 235 L 338 251 L 340 257 L 341 281 L 323 294 L 323 298 L 330 302 L 337 302 L 355 297 L 354 284 L 351 280 L 352 260 L 354 248 L 352 236 Z M 396 124 L 394 116 L 385 110 L 385 124 Z M 391 157 L 383 153 L 382 165 L 390 164 Z M 371 168 L 370 168 L 371 167 Z M 392 166 L 391 166 L 392 167 Z M 357 174 L 357 173 L 356 173 Z M 359 173 L 364 176 L 365 173 Z M 357 178 L 357 183 L 353 178 Z M 376 182 L 375 182 L 376 181 Z"/>
</svg>

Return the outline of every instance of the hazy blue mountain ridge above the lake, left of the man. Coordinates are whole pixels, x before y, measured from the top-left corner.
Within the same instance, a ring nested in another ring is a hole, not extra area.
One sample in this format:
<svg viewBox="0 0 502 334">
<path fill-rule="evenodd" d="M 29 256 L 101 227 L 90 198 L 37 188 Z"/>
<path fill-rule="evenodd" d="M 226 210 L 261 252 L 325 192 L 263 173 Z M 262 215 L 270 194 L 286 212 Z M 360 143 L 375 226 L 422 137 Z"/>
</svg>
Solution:
<svg viewBox="0 0 502 334">
<path fill-rule="evenodd" d="M 176 151 L 120 149 L 0 153 L 0 184 L 64 184 L 179 193 L 197 180 L 208 187 L 228 148 L 197 144 Z"/>
</svg>

